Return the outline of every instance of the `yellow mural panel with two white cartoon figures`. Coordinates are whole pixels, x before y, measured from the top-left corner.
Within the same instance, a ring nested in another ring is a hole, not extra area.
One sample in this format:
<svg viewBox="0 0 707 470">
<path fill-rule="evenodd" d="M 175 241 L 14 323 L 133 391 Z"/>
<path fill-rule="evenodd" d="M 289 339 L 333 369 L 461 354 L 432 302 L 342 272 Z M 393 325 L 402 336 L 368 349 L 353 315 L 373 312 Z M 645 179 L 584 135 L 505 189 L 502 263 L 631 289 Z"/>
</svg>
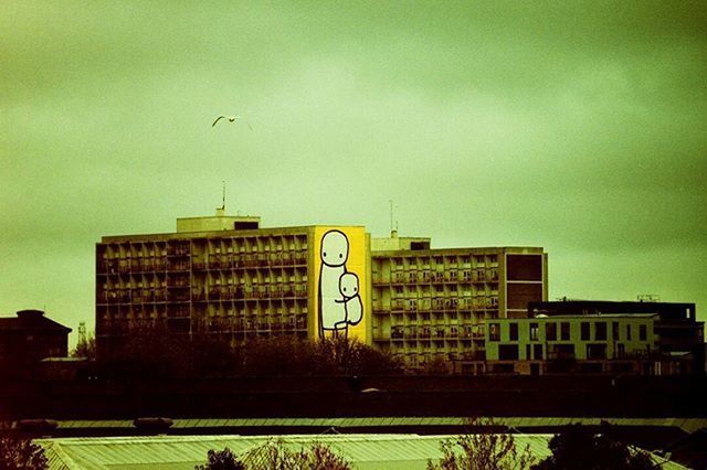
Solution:
<svg viewBox="0 0 707 470">
<path fill-rule="evenodd" d="M 317 234 L 317 322 L 321 339 L 342 335 L 366 341 L 366 238 L 362 228 L 354 228 L 357 227 L 327 229 Z"/>
</svg>

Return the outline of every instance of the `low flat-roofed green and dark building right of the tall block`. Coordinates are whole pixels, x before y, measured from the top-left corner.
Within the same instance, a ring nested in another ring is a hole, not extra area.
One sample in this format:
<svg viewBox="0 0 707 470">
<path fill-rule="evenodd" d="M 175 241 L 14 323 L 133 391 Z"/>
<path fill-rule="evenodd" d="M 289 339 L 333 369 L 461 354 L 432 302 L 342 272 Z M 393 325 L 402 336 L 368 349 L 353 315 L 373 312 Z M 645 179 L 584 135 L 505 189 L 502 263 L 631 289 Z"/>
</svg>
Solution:
<svg viewBox="0 0 707 470">
<path fill-rule="evenodd" d="M 528 314 L 488 323 L 490 373 L 704 373 L 704 324 L 694 305 L 540 302 Z"/>
</svg>

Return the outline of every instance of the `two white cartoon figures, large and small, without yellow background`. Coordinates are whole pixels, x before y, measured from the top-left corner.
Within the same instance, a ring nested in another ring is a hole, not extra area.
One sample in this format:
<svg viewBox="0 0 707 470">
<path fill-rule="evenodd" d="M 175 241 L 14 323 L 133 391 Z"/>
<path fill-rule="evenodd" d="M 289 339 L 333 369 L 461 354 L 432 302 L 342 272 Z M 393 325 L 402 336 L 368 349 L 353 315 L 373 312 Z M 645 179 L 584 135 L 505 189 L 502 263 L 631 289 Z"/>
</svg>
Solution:
<svg viewBox="0 0 707 470">
<path fill-rule="evenodd" d="M 346 337 L 348 325 L 360 322 L 363 314 L 358 277 L 346 268 L 348 238 L 336 229 L 325 233 L 319 255 L 319 338 L 327 331 Z"/>
</svg>

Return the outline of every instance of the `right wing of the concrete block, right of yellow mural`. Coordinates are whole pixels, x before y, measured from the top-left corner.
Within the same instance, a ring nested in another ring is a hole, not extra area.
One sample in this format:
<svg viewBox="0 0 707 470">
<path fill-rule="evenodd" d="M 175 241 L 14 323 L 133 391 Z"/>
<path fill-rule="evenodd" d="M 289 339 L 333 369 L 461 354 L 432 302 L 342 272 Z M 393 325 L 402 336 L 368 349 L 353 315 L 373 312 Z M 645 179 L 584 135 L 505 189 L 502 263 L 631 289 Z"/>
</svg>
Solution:
<svg viewBox="0 0 707 470">
<path fill-rule="evenodd" d="M 423 241 L 402 239 L 384 250 L 376 248 L 395 244 L 372 241 L 373 342 L 409 370 L 444 363 L 482 374 L 485 325 L 526 316 L 529 301 L 547 299 L 547 254 L 537 247 L 430 249 Z"/>
</svg>

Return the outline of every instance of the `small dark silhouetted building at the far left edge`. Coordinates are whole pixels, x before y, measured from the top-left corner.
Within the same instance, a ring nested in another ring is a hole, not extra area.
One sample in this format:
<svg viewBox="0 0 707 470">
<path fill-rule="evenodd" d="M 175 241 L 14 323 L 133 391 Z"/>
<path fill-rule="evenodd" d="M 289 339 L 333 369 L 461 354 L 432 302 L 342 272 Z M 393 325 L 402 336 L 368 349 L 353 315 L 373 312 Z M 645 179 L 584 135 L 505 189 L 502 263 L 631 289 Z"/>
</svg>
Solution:
<svg viewBox="0 0 707 470">
<path fill-rule="evenodd" d="M 66 356 L 70 332 L 71 328 L 44 317 L 42 310 L 20 310 L 17 318 L 0 318 L 0 370 L 28 375 L 45 357 Z"/>
</svg>

